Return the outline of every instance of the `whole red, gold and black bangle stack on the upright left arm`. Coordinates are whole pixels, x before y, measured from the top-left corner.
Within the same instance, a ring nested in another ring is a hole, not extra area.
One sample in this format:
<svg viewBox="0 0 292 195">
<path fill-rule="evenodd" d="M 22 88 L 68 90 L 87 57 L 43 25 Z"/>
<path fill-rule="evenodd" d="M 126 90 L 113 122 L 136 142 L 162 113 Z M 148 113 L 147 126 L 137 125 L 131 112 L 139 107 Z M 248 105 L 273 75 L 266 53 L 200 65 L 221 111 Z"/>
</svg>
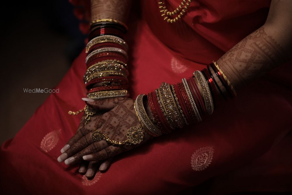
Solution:
<svg viewBox="0 0 292 195">
<path fill-rule="evenodd" d="M 127 26 L 114 19 L 91 23 L 86 45 L 84 83 L 87 97 L 100 100 L 128 97 L 128 45 L 124 41 Z"/>
</svg>

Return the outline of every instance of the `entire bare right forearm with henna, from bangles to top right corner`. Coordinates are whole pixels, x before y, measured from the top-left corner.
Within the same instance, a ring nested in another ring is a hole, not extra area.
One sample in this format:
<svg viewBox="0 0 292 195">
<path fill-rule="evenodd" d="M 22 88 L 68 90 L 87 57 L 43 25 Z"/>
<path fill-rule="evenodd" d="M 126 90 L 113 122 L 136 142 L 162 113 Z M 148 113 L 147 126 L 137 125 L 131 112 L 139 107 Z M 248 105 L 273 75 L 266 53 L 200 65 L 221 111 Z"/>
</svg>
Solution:
<svg viewBox="0 0 292 195">
<path fill-rule="evenodd" d="M 218 59 L 234 88 L 244 87 L 291 59 L 291 6 L 291 1 L 272 1 L 265 25 Z"/>
</svg>

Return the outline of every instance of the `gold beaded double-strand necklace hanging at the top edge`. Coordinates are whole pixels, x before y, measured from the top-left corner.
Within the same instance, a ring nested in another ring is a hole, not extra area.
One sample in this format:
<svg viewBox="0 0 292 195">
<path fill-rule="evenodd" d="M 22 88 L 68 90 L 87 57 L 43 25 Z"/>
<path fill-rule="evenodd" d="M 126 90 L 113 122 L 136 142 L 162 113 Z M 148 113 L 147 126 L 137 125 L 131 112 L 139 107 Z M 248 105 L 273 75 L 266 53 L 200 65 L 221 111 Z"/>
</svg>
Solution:
<svg viewBox="0 0 292 195">
<path fill-rule="evenodd" d="M 164 6 L 165 4 L 163 0 L 159 0 L 158 4 L 159 4 L 160 12 L 162 13 L 161 16 L 164 17 L 164 20 L 166 20 L 167 22 L 170 22 L 170 23 L 176 22 L 186 13 L 186 9 L 188 8 L 188 6 L 190 6 L 191 2 L 192 2 L 191 0 L 183 0 L 175 10 L 168 11 L 166 7 Z M 178 14 L 178 16 L 176 16 L 173 19 L 168 17 L 168 16 L 174 16 L 175 14 Z"/>
</svg>

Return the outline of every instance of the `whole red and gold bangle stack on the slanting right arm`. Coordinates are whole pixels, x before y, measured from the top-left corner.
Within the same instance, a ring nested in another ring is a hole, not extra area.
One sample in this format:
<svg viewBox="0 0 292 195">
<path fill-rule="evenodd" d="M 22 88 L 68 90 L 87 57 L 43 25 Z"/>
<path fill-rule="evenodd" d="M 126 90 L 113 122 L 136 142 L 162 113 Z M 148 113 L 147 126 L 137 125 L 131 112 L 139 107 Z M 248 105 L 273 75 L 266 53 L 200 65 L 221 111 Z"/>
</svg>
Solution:
<svg viewBox="0 0 292 195">
<path fill-rule="evenodd" d="M 183 78 L 181 83 L 162 83 L 158 89 L 147 95 L 153 119 L 148 117 L 143 105 L 145 94 L 138 95 L 135 101 L 136 115 L 148 134 L 160 136 L 170 133 L 174 129 L 200 122 L 205 115 L 213 113 L 214 107 L 218 105 L 218 95 L 223 93 L 210 68 L 226 91 L 232 97 L 236 95 L 230 81 L 215 61 L 207 69 L 195 71 L 192 77 Z"/>
</svg>

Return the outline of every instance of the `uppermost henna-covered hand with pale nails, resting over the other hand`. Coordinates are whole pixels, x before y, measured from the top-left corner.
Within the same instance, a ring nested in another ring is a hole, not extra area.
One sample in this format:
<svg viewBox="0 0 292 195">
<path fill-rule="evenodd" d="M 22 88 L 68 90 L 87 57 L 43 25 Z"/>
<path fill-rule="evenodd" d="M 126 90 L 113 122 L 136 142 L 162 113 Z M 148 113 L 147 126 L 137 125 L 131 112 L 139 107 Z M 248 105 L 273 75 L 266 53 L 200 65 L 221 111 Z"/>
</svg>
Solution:
<svg viewBox="0 0 292 195">
<path fill-rule="evenodd" d="M 66 164 L 80 162 L 82 159 L 91 162 L 101 162 L 113 156 L 131 150 L 152 138 L 144 129 L 144 138 L 140 144 L 136 145 L 112 145 L 101 140 L 93 141 L 92 133 L 96 129 L 106 134 L 111 140 L 124 141 L 126 133 L 130 127 L 139 126 L 139 121 L 134 110 L 134 100 L 129 98 L 111 98 L 86 102 L 87 105 L 95 108 L 102 115 L 93 116 L 91 121 L 75 134 L 69 141 L 69 148 L 59 158 L 65 160 Z M 69 157 L 69 158 L 68 158 Z M 110 163 L 107 163 L 110 164 Z M 108 167 L 107 167 L 108 168 Z"/>
</svg>

